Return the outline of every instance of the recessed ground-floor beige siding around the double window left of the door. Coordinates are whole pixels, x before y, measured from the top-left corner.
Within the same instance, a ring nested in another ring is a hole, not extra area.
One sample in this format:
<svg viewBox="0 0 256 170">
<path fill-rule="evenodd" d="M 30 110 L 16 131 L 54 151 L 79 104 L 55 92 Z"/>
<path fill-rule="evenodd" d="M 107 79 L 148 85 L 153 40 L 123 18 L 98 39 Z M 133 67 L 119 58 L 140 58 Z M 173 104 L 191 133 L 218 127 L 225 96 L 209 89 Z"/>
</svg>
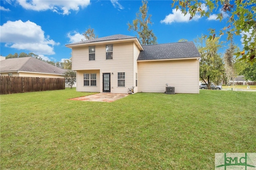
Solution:
<svg viewBox="0 0 256 170">
<path fill-rule="evenodd" d="M 84 73 L 96 73 L 96 86 L 84 86 Z M 100 70 L 79 70 L 76 72 L 76 91 L 100 92 Z"/>
</svg>

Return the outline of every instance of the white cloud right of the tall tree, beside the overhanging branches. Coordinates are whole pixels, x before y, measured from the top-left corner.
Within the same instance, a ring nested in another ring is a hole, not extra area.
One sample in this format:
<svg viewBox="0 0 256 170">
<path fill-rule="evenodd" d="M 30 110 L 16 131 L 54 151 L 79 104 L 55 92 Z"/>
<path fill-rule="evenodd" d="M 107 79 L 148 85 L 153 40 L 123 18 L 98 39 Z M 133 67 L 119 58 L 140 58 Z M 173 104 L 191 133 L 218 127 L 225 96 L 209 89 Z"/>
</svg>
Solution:
<svg viewBox="0 0 256 170">
<path fill-rule="evenodd" d="M 190 21 L 189 18 L 190 18 L 189 14 L 184 16 L 181 10 L 172 9 L 172 14 L 169 14 L 164 18 L 164 20 L 161 20 L 160 22 L 165 24 L 172 24 L 173 22 L 189 22 Z M 200 19 L 200 14 L 196 14 L 192 18 L 193 21 L 197 21 L 199 19 Z"/>
</svg>

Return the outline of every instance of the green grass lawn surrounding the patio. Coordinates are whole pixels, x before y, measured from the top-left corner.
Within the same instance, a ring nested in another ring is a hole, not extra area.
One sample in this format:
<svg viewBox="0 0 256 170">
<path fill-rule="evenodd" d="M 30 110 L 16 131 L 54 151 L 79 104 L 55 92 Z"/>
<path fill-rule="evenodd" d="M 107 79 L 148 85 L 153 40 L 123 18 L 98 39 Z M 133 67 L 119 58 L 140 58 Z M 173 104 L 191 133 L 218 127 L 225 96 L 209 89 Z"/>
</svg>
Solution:
<svg viewBox="0 0 256 170">
<path fill-rule="evenodd" d="M 1 169 L 212 170 L 217 152 L 256 151 L 256 92 L 67 100 L 90 94 L 1 95 Z"/>
</svg>

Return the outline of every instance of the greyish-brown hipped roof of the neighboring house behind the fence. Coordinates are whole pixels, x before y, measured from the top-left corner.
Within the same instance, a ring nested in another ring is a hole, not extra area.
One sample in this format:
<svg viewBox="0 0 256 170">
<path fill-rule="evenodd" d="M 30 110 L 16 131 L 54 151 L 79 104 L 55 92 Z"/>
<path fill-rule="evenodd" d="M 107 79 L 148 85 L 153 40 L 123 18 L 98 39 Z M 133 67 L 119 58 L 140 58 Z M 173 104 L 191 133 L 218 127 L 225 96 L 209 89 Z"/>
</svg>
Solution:
<svg viewBox="0 0 256 170">
<path fill-rule="evenodd" d="M 10 58 L 0 62 L 0 72 L 26 71 L 63 75 L 66 71 L 34 57 Z"/>
</svg>

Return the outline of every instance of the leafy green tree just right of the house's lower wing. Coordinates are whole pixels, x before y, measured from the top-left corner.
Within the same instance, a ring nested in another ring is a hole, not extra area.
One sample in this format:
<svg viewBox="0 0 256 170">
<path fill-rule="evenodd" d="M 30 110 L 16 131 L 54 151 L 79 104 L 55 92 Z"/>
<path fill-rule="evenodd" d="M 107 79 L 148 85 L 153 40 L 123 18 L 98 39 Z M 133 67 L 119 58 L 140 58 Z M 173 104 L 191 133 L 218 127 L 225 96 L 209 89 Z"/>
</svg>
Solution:
<svg viewBox="0 0 256 170">
<path fill-rule="evenodd" d="M 208 89 L 212 83 L 219 84 L 224 75 L 224 64 L 218 54 L 221 43 L 215 38 L 210 41 L 205 40 L 204 36 L 195 40 L 198 45 L 198 51 L 201 54 L 200 59 L 200 80 L 208 84 Z"/>
</svg>

